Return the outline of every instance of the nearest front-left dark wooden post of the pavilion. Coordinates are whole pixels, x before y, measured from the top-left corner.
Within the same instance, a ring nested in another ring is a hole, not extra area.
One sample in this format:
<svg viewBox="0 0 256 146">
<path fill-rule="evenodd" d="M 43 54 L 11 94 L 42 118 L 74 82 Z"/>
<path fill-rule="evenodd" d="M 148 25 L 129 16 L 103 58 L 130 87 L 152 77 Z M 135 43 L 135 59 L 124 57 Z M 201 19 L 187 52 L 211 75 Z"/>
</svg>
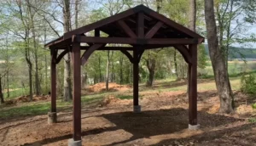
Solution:
<svg viewBox="0 0 256 146">
<path fill-rule="evenodd" d="M 80 43 L 73 42 L 73 141 L 81 141 L 81 59 Z"/>
</svg>

